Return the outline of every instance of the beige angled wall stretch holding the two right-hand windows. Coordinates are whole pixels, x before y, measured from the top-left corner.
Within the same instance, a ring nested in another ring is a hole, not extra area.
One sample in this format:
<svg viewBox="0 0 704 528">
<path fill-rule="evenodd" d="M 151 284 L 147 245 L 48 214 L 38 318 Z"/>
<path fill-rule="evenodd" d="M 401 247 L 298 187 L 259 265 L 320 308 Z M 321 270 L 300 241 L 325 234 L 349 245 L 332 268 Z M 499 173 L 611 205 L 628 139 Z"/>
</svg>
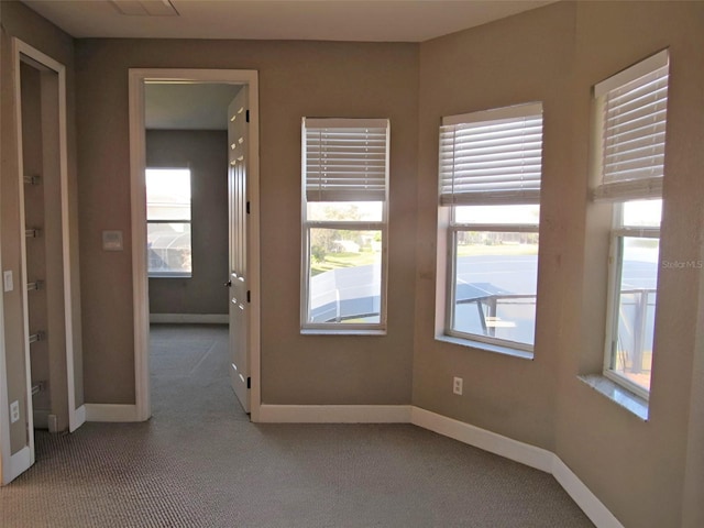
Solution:
<svg viewBox="0 0 704 528">
<path fill-rule="evenodd" d="M 670 47 L 661 260 L 701 265 L 703 38 L 703 2 L 560 2 L 421 45 L 414 404 L 554 451 L 627 527 L 702 526 L 703 285 L 697 270 L 661 266 L 648 421 L 578 378 L 601 372 L 610 218 L 587 198 L 590 90 Z M 543 190 L 526 361 L 433 340 L 435 167 L 442 116 L 534 100 Z"/>
</svg>

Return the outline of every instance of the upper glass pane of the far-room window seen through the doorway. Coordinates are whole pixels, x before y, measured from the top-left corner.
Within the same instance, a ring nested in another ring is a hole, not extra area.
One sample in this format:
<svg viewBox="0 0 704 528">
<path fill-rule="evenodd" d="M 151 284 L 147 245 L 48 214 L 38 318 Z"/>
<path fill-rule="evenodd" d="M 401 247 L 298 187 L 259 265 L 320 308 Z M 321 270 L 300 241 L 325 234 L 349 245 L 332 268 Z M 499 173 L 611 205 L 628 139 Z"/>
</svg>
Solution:
<svg viewBox="0 0 704 528">
<path fill-rule="evenodd" d="M 190 170 L 146 169 L 146 219 L 190 220 Z"/>
</svg>

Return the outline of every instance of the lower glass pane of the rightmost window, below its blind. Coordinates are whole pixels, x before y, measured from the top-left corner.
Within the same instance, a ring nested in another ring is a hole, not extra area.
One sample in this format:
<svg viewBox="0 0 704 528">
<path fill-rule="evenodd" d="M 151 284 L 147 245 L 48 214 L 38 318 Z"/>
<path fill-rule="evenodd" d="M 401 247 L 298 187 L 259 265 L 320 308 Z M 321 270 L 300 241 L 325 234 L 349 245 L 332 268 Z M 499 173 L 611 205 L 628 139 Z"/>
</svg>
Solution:
<svg viewBox="0 0 704 528">
<path fill-rule="evenodd" d="M 658 239 L 623 238 L 618 332 L 612 371 L 650 389 L 658 283 Z"/>
</svg>

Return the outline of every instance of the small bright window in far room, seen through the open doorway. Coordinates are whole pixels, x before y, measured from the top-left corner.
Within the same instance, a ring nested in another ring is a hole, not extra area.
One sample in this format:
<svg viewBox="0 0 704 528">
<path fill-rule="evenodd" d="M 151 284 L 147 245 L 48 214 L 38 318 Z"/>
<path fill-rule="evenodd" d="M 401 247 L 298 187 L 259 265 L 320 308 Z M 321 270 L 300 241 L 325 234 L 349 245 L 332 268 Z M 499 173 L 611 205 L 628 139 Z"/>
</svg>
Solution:
<svg viewBox="0 0 704 528">
<path fill-rule="evenodd" d="M 190 169 L 146 169 L 150 277 L 190 277 Z"/>
</svg>

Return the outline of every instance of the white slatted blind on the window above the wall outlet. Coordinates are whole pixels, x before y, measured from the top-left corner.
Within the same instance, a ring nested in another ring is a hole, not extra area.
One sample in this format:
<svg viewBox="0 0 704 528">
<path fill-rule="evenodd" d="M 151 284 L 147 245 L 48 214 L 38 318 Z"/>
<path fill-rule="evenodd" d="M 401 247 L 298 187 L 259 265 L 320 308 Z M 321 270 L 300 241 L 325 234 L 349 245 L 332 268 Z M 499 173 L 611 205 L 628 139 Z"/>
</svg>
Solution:
<svg viewBox="0 0 704 528">
<path fill-rule="evenodd" d="M 542 103 L 443 118 L 440 204 L 540 202 Z"/>
</svg>

